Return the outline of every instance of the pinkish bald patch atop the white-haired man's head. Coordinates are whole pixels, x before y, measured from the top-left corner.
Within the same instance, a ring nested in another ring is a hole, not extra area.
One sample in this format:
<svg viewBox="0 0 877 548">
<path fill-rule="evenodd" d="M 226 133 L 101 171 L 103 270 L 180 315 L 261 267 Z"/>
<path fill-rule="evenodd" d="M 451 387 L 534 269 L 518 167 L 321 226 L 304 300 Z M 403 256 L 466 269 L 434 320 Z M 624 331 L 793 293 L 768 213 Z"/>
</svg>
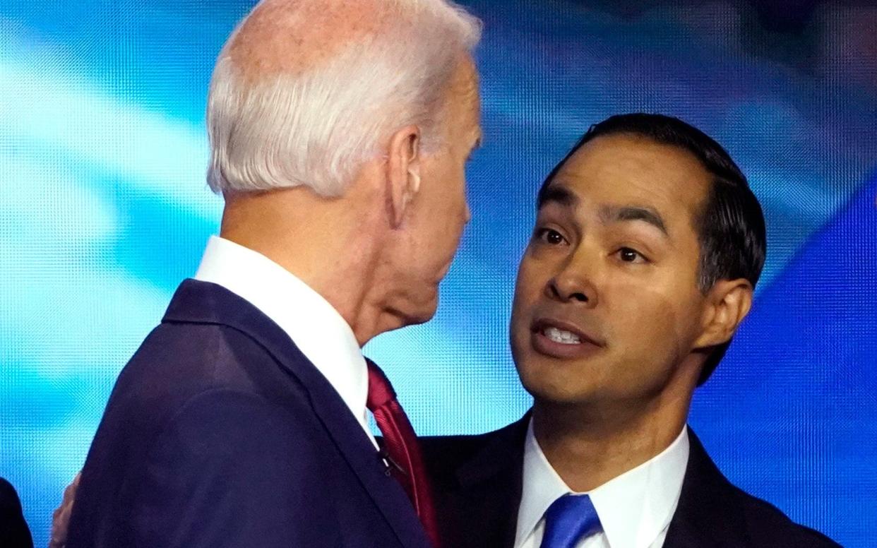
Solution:
<svg viewBox="0 0 877 548">
<path fill-rule="evenodd" d="M 225 51 L 248 79 L 300 73 L 381 32 L 397 15 L 393 4 L 386 0 L 263 0 Z"/>
</svg>

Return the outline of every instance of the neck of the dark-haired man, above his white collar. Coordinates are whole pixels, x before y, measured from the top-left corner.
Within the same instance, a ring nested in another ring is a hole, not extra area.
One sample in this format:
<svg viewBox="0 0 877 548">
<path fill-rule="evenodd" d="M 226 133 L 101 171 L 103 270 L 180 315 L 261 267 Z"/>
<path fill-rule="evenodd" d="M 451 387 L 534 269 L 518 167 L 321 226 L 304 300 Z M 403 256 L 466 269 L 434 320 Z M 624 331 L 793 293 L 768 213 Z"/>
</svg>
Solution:
<svg viewBox="0 0 877 548">
<path fill-rule="evenodd" d="M 685 426 L 688 403 L 653 405 L 533 405 L 533 431 L 545 458 L 567 486 L 587 492 L 663 452 Z"/>
</svg>

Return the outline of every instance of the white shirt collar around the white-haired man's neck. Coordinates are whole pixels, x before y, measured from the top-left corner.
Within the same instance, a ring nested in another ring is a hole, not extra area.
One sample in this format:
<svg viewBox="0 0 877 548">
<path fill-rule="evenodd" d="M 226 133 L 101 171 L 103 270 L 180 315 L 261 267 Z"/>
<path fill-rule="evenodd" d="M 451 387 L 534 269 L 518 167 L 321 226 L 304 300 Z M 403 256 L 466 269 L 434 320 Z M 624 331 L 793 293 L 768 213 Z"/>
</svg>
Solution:
<svg viewBox="0 0 877 548">
<path fill-rule="evenodd" d="M 199 281 L 210 281 L 250 302 L 279 325 L 341 396 L 377 447 L 368 427 L 368 370 L 353 330 L 323 296 L 252 249 L 210 237 Z"/>
</svg>

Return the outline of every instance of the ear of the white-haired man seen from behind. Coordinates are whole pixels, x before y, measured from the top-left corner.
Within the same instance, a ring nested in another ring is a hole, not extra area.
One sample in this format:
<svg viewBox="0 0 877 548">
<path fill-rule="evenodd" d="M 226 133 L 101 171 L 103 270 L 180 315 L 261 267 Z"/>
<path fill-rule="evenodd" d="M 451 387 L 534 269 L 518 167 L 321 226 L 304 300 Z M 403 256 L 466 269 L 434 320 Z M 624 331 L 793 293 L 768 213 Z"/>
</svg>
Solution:
<svg viewBox="0 0 877 548">
<path fill-rule="evenodd" d="M 420 189 L 420 128 L 406 125 L 389 140 L 387 190 L 390 222 L 402 224 L 408 204 Z"/>
</svg>

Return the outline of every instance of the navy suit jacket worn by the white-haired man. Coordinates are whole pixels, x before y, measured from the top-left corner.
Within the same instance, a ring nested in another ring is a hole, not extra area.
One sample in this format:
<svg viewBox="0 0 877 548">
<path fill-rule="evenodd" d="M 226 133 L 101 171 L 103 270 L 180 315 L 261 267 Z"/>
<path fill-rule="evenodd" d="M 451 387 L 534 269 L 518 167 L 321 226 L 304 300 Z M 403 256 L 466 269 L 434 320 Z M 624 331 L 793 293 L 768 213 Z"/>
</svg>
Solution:
<svg viewBox="0 0 877 548">
<path fill-rule="evenodd" d="M 428 541 L 360 423 L 287 334 L 225 288 L 187 280 L 119 374 L 67 546 Z"/>
</svg>

